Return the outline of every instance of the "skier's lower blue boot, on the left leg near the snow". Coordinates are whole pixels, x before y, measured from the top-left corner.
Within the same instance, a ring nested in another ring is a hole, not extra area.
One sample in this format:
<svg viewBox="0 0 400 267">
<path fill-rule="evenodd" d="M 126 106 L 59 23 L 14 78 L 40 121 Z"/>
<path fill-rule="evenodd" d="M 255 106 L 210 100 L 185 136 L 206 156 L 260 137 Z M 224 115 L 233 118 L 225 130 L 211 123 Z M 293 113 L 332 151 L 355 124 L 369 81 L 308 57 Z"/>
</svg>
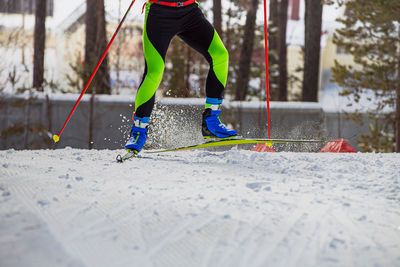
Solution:
<svg viewBox="0 0 400 267">
<path fill-rule="evenodd" d="M 133 150 L 136 154 L 142 150 L 147 139 L 147 127 L 149 125 L 149 117 L 139 118 L 134 116 L 134 125 L 132 126 L 131 135 L 125 144 L 127 150 Z"/>
</svg>

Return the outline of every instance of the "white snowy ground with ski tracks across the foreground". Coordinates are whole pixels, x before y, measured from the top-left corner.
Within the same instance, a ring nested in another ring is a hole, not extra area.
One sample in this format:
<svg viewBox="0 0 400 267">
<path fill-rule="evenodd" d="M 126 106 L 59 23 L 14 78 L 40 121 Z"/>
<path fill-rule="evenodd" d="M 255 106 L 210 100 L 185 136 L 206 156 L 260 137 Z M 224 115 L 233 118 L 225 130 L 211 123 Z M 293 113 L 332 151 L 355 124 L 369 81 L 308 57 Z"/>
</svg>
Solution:
<svg viewBox="0 0 400 267">
<path fill-rule="evenodd" d="M 0 151 L 0 266 L 400 266 L 400 155 Z"/>
</svg>

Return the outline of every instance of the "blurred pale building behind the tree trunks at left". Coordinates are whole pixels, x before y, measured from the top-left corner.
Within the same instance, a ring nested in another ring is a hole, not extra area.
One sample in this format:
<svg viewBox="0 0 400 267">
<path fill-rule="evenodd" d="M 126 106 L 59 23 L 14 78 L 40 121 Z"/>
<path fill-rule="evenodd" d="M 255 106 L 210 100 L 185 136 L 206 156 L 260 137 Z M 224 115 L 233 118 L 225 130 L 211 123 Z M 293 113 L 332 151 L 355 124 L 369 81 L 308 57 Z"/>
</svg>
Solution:
<svg viewBox="0 0 400 267">
<path fill-rule="evenodd" d="M 5 88 L 8 92 L 15 92 L 18 88 L 29 88 L 32 84 L 35 1 L 0 1 L 0 10 L 4 12 L 0 14 L 0 53 L 4 55 L 0 62 L 0 87 L 2 90 Z M 71 86 L 69 79 L 77 80 L 72 66 L 81 64 L 84 59 L 86 2 L 51 0 L 47 5 L 49 17 L 46 20 L 45 80 L 53 84 L 53 87 L 55 85 L 58 91 L 80 91 L 82 88 Z M 116 6 L 118 4 L 115 1 L 106 0 L 109 39 L 120 19 L 115 14 Z M 144 69 L 142 20 L 139 19 L 138 10 L 139 8 L 131 12 L 109 51 L 112 85 L 129 87 L 130 93 L 134 93 L 131 88 L 138 86 L 141 80 L 139 73 Z M 14 72 L 18 76 L 15 77 L 16 83 L 9 79 Z M 119 83 L 116 82 L 117 76 L 122 80 Z"/>
</svg>

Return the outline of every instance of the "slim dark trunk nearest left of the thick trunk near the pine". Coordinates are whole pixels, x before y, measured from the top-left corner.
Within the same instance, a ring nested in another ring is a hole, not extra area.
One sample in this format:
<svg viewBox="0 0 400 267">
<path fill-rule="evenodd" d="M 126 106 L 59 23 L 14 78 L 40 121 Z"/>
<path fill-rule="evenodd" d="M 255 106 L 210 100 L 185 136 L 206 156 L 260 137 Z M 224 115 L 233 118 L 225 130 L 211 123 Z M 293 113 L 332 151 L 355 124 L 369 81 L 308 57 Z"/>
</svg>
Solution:
<svg viewBox="0 0 400 267">
<path fill-rule="evenodd" d="M 288 0 L 281 0 L 279 6 L 278 55 L 279 55 L 279 101 L 287 101 L 287 46 L 286 27 Z"/>
</svg>

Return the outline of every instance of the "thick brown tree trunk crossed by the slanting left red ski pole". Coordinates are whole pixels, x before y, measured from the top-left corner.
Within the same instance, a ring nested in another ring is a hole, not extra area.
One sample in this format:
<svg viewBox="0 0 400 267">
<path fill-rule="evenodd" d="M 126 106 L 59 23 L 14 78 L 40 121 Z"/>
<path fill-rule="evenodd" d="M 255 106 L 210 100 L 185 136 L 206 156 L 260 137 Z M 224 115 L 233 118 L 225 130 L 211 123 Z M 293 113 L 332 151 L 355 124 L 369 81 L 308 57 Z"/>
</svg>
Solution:
<svg viewBox="0 0 400 267">
<path fill-rule="evenodd" d="M 87 0 L 86 5 L 85 82 L 107 47 L 104 0 Z M 94 77 L 91 88 L 88 89 L 89 92 L 94 90 L 99 94 L 111 93 L 107 56 Z"/>
</svg>

